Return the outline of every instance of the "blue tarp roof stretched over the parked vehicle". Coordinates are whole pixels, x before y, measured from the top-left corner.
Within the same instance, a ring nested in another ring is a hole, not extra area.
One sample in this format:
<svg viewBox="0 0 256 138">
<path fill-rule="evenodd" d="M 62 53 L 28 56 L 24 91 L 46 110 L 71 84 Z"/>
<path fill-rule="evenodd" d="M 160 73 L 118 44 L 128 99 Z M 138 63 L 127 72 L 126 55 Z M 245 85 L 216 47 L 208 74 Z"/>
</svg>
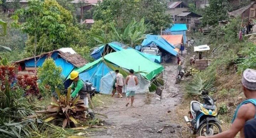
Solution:
<svg viewBox="0 0 256 138">
<path fill-rule="evenodd" d="M 164 49 L 166 52 L 176 56 L 178 54 L 177 51 L 175 51 L 175 47 L 167 42 L 164 38 L 162 38 L 160 35 L 146 35 L 146 39 L 143 40 L 141 43 L 142 47 L 150 46 L 154 43 L 155 45 L 159 46 L 160 48 Z"/>
</svg>

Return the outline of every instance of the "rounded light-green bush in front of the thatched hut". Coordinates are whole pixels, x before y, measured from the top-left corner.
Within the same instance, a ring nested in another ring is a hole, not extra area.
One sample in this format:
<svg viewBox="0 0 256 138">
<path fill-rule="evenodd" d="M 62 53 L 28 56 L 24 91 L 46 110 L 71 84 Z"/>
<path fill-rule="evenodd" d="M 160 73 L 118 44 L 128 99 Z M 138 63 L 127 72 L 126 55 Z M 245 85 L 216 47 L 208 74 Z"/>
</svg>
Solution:
<svg viewBox="0 0 256 138">
<path fill-rule="evenodd" d="M 64 88 L 63 80 L 64 77 L 61 75 L 61 67 L 57 67 L 53 61 L 53 59 L 45 59 L 43 66 L 38 69 L 38 78 L 40 81 L 40 85 L 44 87 L 50 87 L 51 92 L 54 92 L 55 86 L 60 89 Z M 44 89 L 40 86 L 41 90 Z M 47 91 L 41 91 L 43 95 L 47 95 L 45 93 Z"/>
</svg>

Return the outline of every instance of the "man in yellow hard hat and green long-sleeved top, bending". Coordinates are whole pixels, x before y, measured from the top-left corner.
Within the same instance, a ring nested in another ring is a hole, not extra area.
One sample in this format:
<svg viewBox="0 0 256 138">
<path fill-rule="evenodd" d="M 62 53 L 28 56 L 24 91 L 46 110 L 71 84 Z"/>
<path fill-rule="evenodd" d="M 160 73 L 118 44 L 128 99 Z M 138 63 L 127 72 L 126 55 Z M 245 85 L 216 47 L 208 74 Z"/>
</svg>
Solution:
<svg viewBox="0 0 256 138">
<path fill-rule="evenodd" d="M 71 93 L 71 97 L 75 98 L 80 95 L 80 99 L 84 100 L 84 104 L 88 107 L 88 98 L 86 96 L 86 85 L 82 79 L 79 79 L 79 73 L 77 71 L 72 71 L 70 73 L 70 79 L 73 80 L 71 84 L 71 89 L 73 92 Z"/>
</svg>

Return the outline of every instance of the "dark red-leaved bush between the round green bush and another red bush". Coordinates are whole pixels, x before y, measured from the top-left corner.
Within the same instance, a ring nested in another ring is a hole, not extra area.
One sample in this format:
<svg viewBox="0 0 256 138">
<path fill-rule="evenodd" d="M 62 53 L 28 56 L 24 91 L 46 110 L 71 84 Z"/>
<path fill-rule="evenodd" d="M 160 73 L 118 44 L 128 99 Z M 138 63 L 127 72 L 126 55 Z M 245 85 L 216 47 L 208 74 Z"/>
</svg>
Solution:
<svg viewBox="0 0 256 138">
<path fill-rule="evenodd" d="M 37 77 L 36 76 L 28 76 L 26 75 L 19 75 L 17 84 L 26 91 L 27 95 L 38 95 L 39 88 L 37 85 Z"/>
</svg>

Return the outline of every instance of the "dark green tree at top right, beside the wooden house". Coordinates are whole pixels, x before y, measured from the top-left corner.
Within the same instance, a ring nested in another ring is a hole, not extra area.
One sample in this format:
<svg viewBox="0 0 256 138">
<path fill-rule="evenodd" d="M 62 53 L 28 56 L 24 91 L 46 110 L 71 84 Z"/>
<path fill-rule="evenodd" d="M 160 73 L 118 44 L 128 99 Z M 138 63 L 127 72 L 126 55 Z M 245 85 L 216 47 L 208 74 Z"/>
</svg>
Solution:
<svg viewBox="0 0 256 138">
<path fill-rule="evenodd" d="M 218 21 L 228 18 L 227 0 L 210 0 L 210 5 L 205 8 L 202 25 L 217 25 Z"/>
</svg>

